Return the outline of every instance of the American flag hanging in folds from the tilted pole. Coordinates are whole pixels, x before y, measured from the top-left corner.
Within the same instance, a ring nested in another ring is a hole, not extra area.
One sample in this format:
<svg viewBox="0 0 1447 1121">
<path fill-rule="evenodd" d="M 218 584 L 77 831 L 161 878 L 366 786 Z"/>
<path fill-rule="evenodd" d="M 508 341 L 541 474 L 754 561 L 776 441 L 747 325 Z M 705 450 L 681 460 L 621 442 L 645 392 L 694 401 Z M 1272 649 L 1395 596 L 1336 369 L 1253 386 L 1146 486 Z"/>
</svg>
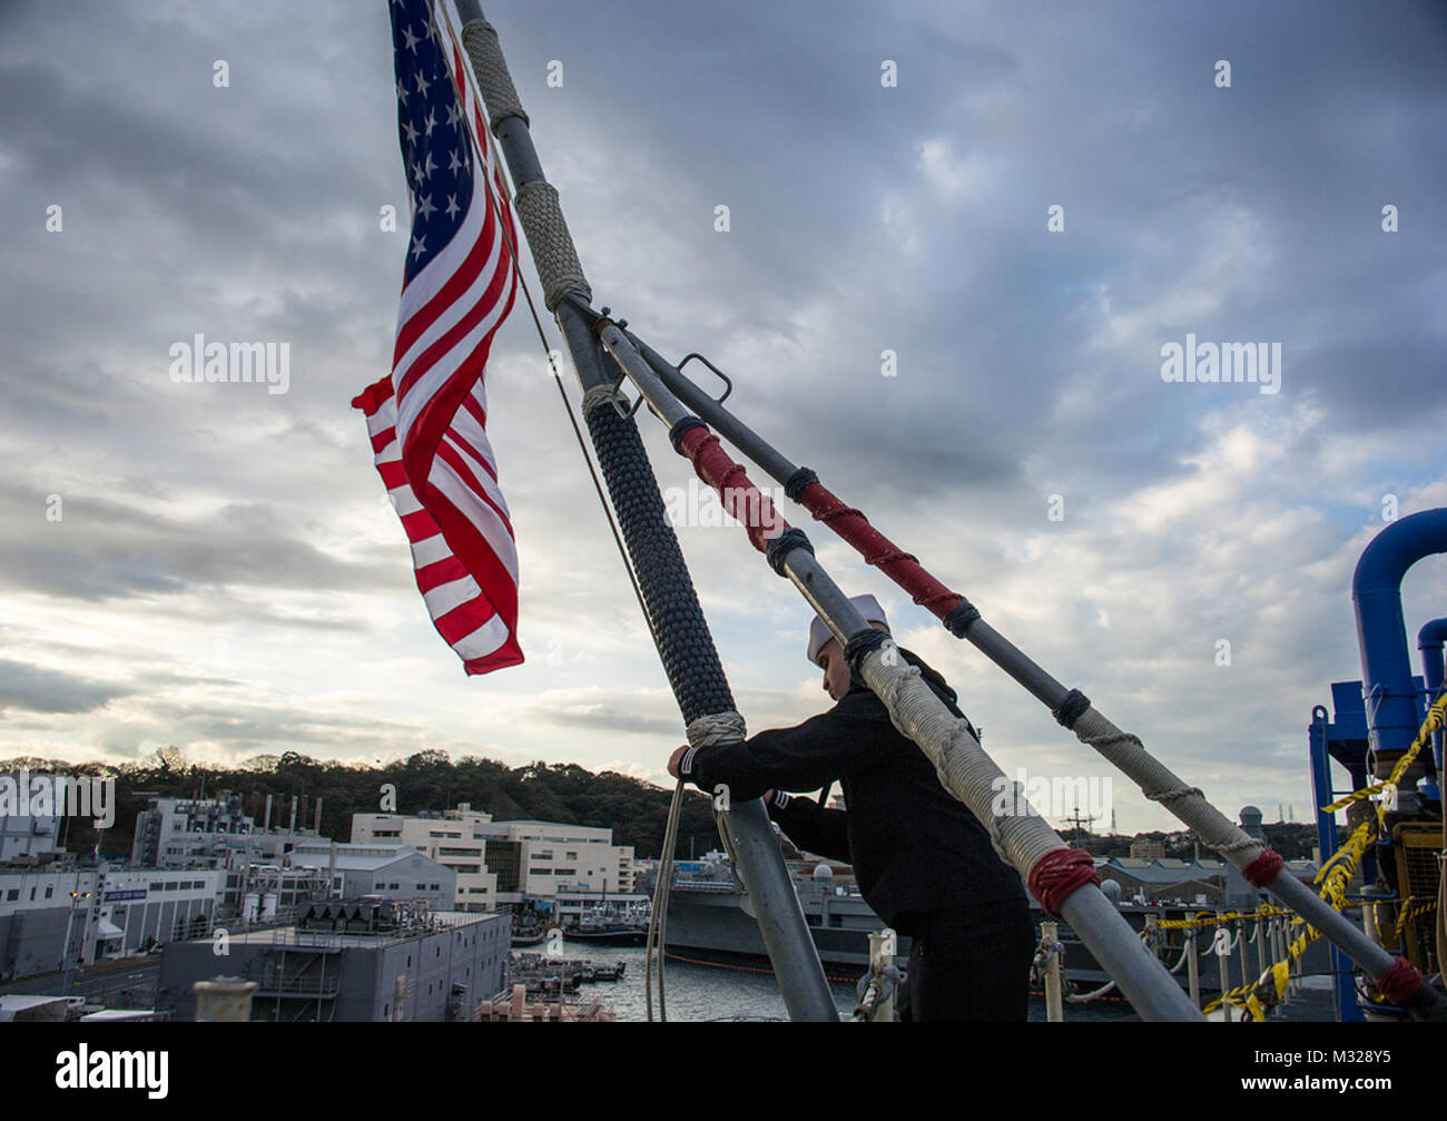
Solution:
<svg viewBox="0 0 1447 1121">
<path fill-rule="evenodd" d="M 447 13 L 392 0 L 396 122 L 412 210 L 392 372 L 352 404 L 412 545 L 417 587 L 469 674 L 522 661 L 518 553 L 488 443 L 483 366 L 517 244 Z"/>
</svg>

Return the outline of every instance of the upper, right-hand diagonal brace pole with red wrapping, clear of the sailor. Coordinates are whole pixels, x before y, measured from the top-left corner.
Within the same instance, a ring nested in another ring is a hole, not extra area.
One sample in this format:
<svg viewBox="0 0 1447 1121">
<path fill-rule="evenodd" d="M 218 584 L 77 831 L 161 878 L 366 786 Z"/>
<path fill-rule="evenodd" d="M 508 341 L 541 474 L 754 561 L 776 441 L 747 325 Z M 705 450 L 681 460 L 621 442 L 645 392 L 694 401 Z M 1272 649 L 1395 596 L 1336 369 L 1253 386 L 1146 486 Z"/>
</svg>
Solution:
<svg viewBox="0 0 1447 1121">
<path fill-rule="evenodd" d="M 1147 798 L 1168 809 L 1204 845 L 1240 869 L 1247 882 L 1269 891 L 1279 903 L 1310 918 L 1369 978 L 1380 978 L 1393 968 L 1393 959 L 1386 950 L 1367 939 L 1347 918 L 1333 911 L 1294 875 L 1283 874 L 1283 864 L 1276 853 L 1252 839 L 1239 824 L 1211 806 L 1198 787 L 1185 783 L 1171 768 L 1152 756 L 1139 736 L 1120 730 L 1079 690 L 1066 689 L 1026 657 L 981 618 L 978 608 L 964 596 L 946 589 L 912 554 L 900 550 L 870 525 L 861 512 L 845 506 L 819 482 L 818 473 L 790 463 L 635 336 L 628 334 L 624 341 L 629 344 L 635 356 L 644 359 L 648 373 L 666 388 L 666 392 L 676 395 L 676 401 L 695 409 L 702 421 L 719 428 L 744 454 L 781 483 L 789 498 L 803 505 L 816 519 L 825 521 L 828 516 L 829 528 L 854 545 L 865 561 L 875 564 L 880 571 L 909 592 L 916 603 L 936 615 L 952 634 L 969 641 L 1003 668 L 1026 691 L 1043 703 L 1055 719 L 1071 729 L 1082 743 L 1094 748 L 1121 774 L 1134 781 Z M 614 351 L 614 347 L 609 347 L 609 351 Z M 618 357 L 616 353 L 614 357 Z M 632 376 L 631 370 L 629 376 Z M 634 378 L 634 380 L 638 379 Z M 1412 1005 L 1415 1011 L 1430 1011 L 1433 1015 L 1447 1017 L 1447 998 L 1430 985 L 1420 986 L 1412 998 Z"/>
</svg>

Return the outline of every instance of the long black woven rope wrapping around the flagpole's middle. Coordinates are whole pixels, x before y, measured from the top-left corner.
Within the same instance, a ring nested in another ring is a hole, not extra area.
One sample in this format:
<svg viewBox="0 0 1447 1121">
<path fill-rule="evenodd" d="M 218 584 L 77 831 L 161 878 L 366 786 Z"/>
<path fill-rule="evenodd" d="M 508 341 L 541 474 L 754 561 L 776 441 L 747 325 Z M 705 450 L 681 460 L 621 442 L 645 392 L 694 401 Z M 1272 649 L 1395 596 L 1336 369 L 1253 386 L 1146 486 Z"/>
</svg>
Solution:
<svg viewBox="0 0 1447 1121">
<path fill-rule="evenodd" d="M 585 418 L 598 466 L 642 589 L 658 657 L 679 699 L 684 723 L 735 712 L 713 636 L 699 608 L 693 579 L 658 495 L 638 425 L 606 401 Z"/>
</svg>

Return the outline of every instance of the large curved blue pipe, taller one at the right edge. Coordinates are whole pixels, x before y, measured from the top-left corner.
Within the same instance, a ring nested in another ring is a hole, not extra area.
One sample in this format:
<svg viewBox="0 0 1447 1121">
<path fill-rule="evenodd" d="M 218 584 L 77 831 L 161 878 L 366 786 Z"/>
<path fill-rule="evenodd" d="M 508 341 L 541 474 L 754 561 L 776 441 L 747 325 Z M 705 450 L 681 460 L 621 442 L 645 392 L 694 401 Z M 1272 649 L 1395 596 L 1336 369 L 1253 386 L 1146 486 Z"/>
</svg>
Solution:
<svg viewBox="0 0 1447 1121">
<path fill-rule="evenodd" d="M 1406 751 L 1421 728 L 1402 619 L 1402 577 L 1434 553 L 1447 553 L 1447 509 L 1422 511 L 1392 522 L 1372 538 L 1351 576 L 1362 691 L 1378 752 Z"/>
</svg>

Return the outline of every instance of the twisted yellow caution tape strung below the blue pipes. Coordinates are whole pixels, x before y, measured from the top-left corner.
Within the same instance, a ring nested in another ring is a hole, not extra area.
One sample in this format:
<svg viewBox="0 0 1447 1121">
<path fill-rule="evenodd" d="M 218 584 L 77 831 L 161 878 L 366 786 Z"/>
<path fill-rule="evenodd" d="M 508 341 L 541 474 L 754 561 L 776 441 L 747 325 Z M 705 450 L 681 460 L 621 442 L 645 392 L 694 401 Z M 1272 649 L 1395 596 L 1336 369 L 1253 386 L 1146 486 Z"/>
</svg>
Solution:
<svg viewBox="0 0 1447 1121">
<path fill-rule="evenodd" d="M 1412 741 L 1411 746 L 1402 752 L 1402 756 L 1396 761 L 1392 768 L 1392 774 L 1382 783 L 1373 783 L 1369 787 L 1353 791 L 1344 798 L 1338 798 L 1330 806 L 1323 806 L 1323 813 L 1336 813 L 1347 806 L 1357 801 L 1365 801 L 1373 794 L 1380 794 L 1389 787 L 1395 787 L 1406 768 L 1412 765 L 1417 755 L 1425 748 L 1433 738 L 1433 733 L 1441 729 L 1447 723 L 1447 691 L 1437 697 L 1433 706 L 1427 710 L 1427 719 L 1422 722 L 1421 729 L 1417 732 L 1417 739 Z M 1341 846 L 1331 853 L 1331 856 L 1323 862 L 1321 868 L 1317 871 L 1315 879 L 1312 882 L 1320 884 L 1321 888 L 1318 895 L 1325 900 L 1333 910 L 1341 911 L 1347 905 L 1347 887 L 1351 882 L 1351 877 L 1356 875 L 1357 865 L 1362 862 L 1363 855 L 1366 855 L 1370 845 L 1382 835 L 1386 829 L 1386 803 L 1379 801 L 1376 804 L 1376 813 L 1367 817 L 1362 824 L 1359 824 L 1351 835 L 1341 843 Z M 1399 916 L 1396 923 L 1393 923 L 1393 945 L 1401 945 L 1401 934 L 1406 923 L 1435 907 L 1435 901 L 1411 898 L 1405 900 L 1399 908 Z M 1229 916 L 1223 916 L 1223 920 Z M 1250 917 L 1250 916 L 1243 916 Z M 1162 923 L 1160 926 L 1168 926 Z M 1171 924 L 1174 926 L 1174 924 Z M 1289 926 L 1299 927 L 1299 933 L 1286 947 L 1286 956 L 1278 962 L 1273 962 L 1266 971 L 1256 979 L 1252 985 L 1242 985 L 1239 988 L 1230 989 L 1221 994 L 1217 999 L 1205 1007 L 1207 1013 L 1211 1013 L 1221 1007 L 1223 1002 L 1229 1002 L 1233 1007 L 1244 1008 L 1252 1014 L 1256 1021 L 1265 1021 L 1266 1014 L 1281 1002 L 1281 998 L 1286 994 L 1286 982 L 1291 979 L 1291 968 L 1307 952 L 1307 946 L 1321 937 L 1321 933 L 1308 926 L 1301 917 L 1292 917 Z M 1411 975 L 1415 971 L 1405 958 L 1398 958 L 1396 963 L 1388 971 L 1388 975 L 1378 979 L 1378 989 L 1382 992 L 1383 1002 L 1391 1002 L 1399 988 L 1405 988 L 1411 981 Z"/>
</svg>

